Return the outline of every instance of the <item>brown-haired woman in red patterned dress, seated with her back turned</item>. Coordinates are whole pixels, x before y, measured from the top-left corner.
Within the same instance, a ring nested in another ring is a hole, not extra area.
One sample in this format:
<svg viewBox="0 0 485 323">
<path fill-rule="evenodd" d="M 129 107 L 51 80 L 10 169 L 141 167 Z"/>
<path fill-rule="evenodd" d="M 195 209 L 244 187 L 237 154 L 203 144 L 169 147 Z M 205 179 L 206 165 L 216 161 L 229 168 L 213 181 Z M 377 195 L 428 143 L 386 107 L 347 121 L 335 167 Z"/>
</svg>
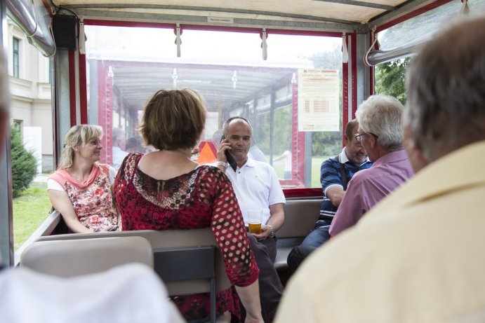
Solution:
<svg viewBox="0 0 485 323">
<path fill-rule="evenodd" d="M 217 167 L 190 159 L 205 127 L 206 109 L 194 90 L 159 90 L 140 125 L 145 144 L 158 151 L 130 153 L 114 181 L 124 230 L 211 228 L 234 288 L 219 291 L 217 313 L 263 322 L 258 275 L 241 210 L 229 179 Z M 210 315 L 208 294 L 173 297 L 188 322 Z"/>
</svg>

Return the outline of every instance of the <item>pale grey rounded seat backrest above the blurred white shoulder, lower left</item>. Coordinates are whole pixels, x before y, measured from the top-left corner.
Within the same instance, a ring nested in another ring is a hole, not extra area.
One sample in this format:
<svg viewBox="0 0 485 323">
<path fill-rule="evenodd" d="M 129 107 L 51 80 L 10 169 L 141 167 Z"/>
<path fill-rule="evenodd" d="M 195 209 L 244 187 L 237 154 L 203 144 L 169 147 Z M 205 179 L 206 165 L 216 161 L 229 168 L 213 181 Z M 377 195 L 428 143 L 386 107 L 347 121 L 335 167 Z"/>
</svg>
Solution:
<svg viewBox="0 0 485 323">
<path fill-rule="evenodd" d="M 125 263 L 153 268 L 153 250 L 142 237 L 36 241 L 20 258 L 20 266 L 40 273 L 72 277 L 99 273 Z"/>
</svg>

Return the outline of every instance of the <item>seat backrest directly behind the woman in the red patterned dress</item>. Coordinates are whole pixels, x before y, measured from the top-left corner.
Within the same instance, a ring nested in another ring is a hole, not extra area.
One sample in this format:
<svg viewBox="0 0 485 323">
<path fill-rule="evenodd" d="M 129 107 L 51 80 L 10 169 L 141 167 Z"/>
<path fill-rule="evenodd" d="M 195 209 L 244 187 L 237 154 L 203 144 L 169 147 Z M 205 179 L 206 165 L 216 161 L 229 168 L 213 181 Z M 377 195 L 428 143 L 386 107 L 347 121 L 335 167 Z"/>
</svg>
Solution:
<svg viewBox="0 0 485 323">
<path fill-rule="evenodd" d="M 49 235 L 37 241 L 67 242 L 112 237 L 142 237 L 150 242 L 154 252 L 154 270 L 164 281 L 168 295 L 211 293 L 211 322 L 215 322 L 215 291 L 229 289 L 231 283 L 211 228 Z"/>
</svg>

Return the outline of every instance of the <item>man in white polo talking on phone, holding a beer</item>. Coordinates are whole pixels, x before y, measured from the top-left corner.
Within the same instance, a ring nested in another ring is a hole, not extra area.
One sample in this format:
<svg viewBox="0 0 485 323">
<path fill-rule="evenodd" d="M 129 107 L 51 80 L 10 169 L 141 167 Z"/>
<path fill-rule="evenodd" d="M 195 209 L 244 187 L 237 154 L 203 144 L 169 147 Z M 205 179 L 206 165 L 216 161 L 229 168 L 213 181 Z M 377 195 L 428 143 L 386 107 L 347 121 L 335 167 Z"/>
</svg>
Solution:
<svg viewBox="0 0 485 323">
<path fill-rule="evenodd" d="M 283 225 L 283 205 L 286 200 L 273 168 L 267 163 L 248 158 L 252 132 L 251 124 L 245 118 L 233 117 L 225 121 L 222 125 L 222 141 L 218 148 L 218 167 L 232 183 L 244 224 L 248 226 L 249 209 L 260 209 L 263 212 L 261 232 L 248 233 L 248 238 L 260 268 L 263 318 L 265 322 L 272 322 L 283 294 L 283 285 L 273 265 L 277 254 L 277 239 L 274 233 Z M 226 155 L 229 159 L 234 158 L 234 168 L 228 164 Z"/>
</svg>

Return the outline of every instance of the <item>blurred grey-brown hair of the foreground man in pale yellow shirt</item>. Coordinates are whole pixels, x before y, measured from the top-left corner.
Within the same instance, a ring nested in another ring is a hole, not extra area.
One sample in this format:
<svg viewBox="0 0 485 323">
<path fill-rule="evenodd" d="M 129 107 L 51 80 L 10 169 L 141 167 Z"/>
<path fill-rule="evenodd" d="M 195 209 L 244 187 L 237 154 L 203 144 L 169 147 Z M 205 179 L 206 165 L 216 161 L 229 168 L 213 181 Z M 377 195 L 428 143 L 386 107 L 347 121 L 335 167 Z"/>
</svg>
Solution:
<svg viewBox="0 0 485 323">
<path fill-rule="evenodd" d="M 451 24 L 411 60 L 405 116 L 430 162 L 485 139 L 485 17 Z"/>
</svg>

